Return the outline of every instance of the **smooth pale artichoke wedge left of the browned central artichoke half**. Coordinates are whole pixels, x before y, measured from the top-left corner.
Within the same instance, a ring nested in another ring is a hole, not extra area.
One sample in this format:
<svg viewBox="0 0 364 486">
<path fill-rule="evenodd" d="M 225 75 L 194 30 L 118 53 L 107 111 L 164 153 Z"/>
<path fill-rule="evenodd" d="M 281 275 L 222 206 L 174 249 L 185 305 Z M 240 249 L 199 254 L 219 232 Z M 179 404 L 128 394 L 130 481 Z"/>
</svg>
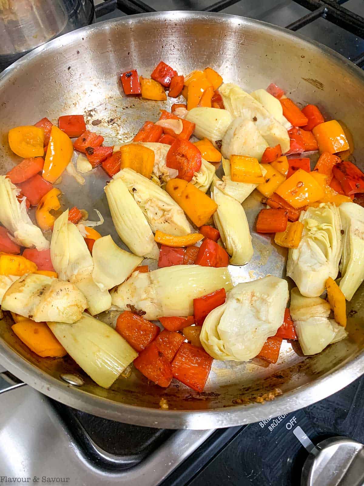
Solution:
<svg viewBox="0 0 364 486">
<path fill-rule="evenodd" d="M 104 191 L 120 239 L 134 255 L 158 260 L 159 249 L 152 230 L 125 182 L 121 178 L 113 179 Z"/>
</svg>

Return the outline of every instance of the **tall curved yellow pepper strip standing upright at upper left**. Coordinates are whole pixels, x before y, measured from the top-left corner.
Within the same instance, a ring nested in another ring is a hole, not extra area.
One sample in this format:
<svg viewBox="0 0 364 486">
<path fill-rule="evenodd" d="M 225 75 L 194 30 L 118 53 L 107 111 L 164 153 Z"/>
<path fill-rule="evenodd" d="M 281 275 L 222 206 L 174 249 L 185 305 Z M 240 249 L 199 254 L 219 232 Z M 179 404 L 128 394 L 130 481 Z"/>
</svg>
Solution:
<svg viewBox="0 0 364 486">
<path fill-rule="evenodd" d="M 46 158 L 43 167 L 43 179 L 54 184 L 69 164 L 73 154 L 71 139 L 55 125 L 50 131 Z"/>
</svg>

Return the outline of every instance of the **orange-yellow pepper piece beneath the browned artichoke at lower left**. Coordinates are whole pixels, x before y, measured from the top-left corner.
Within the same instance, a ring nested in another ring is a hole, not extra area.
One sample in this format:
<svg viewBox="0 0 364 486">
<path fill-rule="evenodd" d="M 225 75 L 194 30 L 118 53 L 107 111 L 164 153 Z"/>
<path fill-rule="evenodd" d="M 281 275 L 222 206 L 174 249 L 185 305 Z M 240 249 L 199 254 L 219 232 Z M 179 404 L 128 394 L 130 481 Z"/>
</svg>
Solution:
<svg viewBox="0 0 364 486">
<path fill-rule="evenodd" d="M 12 326 L 17 337 L 34 353 L 42 358 L 62 358 L 67 351 L 56 339 L 45 322 L 34 322 L 25 319 Z"/>
</svg>

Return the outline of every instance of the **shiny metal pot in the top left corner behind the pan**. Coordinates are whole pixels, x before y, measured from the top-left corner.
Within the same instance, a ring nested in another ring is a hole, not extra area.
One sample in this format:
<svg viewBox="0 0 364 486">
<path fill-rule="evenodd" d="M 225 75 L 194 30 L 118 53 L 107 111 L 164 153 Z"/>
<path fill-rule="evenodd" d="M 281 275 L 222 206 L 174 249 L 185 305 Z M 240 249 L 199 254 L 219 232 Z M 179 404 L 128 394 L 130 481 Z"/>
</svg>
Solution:
<svg viewBox="0 0 364 486">
<path fill-rule="evenodd" d="M 0 71 L 35 47 L 94 21 L 92 0 L 0 0 Z"/>
</svg>

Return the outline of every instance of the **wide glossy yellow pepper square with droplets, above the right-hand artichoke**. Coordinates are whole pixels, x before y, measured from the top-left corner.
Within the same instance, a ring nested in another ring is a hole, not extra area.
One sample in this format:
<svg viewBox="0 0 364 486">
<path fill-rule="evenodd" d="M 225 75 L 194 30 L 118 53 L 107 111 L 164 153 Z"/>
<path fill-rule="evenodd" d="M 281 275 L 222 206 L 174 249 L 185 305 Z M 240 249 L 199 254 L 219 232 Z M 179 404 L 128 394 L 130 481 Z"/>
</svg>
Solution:
<svg viewBox="0 0 364 486">
<path fill-rule="evenodd" d="M 294 208 L 302 208 L 324 197 L 324 190 L 314 177 L 303 169 L 298 169 L 288 177 L 276 193 Z"/>
</svg>

